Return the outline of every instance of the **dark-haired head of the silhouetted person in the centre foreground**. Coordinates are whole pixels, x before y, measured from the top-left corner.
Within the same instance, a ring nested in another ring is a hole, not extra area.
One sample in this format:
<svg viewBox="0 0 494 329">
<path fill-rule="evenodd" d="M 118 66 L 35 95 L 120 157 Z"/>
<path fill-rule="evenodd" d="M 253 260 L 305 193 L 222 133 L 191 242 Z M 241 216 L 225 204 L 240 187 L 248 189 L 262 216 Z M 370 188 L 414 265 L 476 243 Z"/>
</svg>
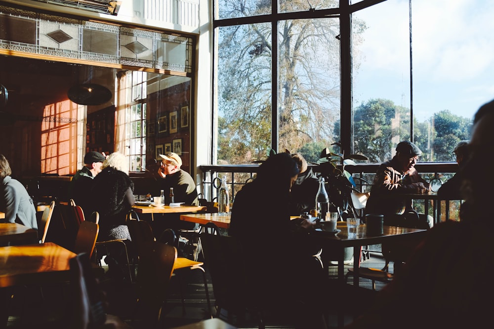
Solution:
<svg viewBox="0 0 494 329">
<path fill-rule="evenodd" d="M 255 180 L 289 192 L 299 172 L 297 162 L 289 153 L 278 153 L 259 166 Z"/>
</svg>

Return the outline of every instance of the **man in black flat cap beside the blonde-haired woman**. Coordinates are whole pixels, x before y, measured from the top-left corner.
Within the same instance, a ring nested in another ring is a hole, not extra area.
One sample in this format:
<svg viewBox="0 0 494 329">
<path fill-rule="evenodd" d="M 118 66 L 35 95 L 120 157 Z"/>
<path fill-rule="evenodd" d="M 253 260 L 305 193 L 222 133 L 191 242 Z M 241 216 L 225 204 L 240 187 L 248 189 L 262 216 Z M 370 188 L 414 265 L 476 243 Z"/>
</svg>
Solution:
<svg viewBox="0 0 494 329">
<path fill-rule="evenodd" d="M 72 178 L 69 185 L 69 199 L 74 199 L 76 205 L 82 210 L 90 209 L 90 196 L 93 178 L 101 172 L 101 165 L 105 156 L 101 153 L 91 151 L 84 156 L 84 167 Z M 84 213 L 87 217 L 89 214 Z"/>
</svg>

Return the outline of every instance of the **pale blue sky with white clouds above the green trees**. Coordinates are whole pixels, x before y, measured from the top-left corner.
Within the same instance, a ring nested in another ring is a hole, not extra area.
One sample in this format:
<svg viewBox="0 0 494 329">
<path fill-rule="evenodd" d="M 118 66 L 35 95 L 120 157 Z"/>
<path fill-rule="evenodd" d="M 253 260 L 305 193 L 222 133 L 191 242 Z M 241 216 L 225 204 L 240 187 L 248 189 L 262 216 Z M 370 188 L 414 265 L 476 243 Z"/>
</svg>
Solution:
<svg viewBox="0 0 494 329">
<path fill-rule="evenodd" d="M 494 98 L 494 1 L 412 0 L 413 113 L 472 118 Z M 354 59 L 355 106 L 385 98 L 410 108 L 409 1 L 354 14 L 368 29 Z"/>
</svg>

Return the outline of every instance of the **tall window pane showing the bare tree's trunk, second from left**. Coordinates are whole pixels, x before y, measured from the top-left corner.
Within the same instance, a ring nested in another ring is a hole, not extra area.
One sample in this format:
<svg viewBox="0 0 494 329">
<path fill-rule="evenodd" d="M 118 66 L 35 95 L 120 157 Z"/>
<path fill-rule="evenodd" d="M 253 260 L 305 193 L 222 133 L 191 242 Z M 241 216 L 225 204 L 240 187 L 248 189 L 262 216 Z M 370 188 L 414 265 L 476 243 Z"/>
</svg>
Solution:
<svg viewBox="0 0 494 329">
<path fill-rule="evenodd" d="M 339 19 L 280 21 L 279 145 L 317 161 L 340 140 Z M 334 152 L 340 152 L 334 146 Z"/>
</svg>

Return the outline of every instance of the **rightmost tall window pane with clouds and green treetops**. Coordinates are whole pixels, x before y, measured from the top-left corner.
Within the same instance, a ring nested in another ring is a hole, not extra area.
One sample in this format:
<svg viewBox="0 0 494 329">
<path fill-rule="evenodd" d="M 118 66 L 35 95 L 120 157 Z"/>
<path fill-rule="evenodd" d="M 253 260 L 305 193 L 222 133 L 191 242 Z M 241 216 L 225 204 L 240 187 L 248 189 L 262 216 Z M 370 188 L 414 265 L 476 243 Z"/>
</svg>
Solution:
<svg viewBox="0 0 494 329">
<path fill-rule="evenodd" d="M 493 15 L 490 1 L 412 1 L 413 134 L 427 153 L 421 159 L 455 161 L 474 113 L 492 100 Z"/>
</svg>

